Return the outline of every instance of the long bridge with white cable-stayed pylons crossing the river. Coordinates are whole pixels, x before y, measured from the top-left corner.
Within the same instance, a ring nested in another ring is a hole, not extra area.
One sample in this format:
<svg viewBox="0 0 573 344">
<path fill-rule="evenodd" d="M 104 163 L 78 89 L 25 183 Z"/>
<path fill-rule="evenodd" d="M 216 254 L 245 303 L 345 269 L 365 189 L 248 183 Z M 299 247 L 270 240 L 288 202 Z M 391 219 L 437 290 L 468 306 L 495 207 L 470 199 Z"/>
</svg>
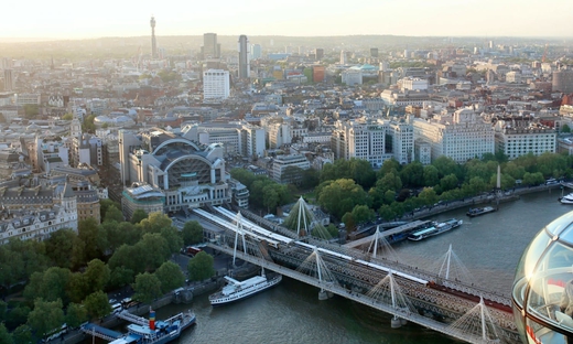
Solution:
<svg viewBox="0 0 573 344">
<path fill-rule="evenodd" d="M 203 221 L 220 228 L 212 235 L 209 247 L 314 286 L 322 300 L 336 294 L 392 314 L 392 327 L 410 321 L 468 343 L 519 341 L 510 300 L 452 280 L 448 266 L 444 273 L 422 271 L 376 252 L 299 237 L 241 212 L 251 221 L 223 207 L 194 209 Z M 448 251 L 446 260 L 451 259 Z"/>
</svg>

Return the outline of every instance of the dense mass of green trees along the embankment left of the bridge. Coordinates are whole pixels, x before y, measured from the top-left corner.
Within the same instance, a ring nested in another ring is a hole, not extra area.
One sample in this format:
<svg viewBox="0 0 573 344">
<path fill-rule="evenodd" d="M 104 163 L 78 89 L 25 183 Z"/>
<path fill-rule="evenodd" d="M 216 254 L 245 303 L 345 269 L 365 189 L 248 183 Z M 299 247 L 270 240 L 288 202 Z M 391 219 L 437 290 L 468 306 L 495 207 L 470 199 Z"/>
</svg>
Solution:
<svg viewBox="0 0 573 344">
<path fill-rule="evenodd" d="M 102 201 L 100 208 L 100 225 L 87 218 L 78 233 L 61 229 L 42 243 L 14 239 L 0 246 L 2 289 L 25 283 L 21 299 L 0 301 L 6 324 L 0 340 L 7 329 L 14 342 L 28 343 L 26 335 L 41 338 L 64 322 L 75 327 L 101 318 L 111 311 L 105 291 L 131 286 L 134 300 L 149 302 L 183 286 L 180 267 L 167 259 L 184 244 L 203 240 L 197 222 L 180 232 L 166 215 L 136 212 L 132 222 L 125 222 L 117 204 Z M 213 257 L 197 255 L 187 273 L 192 280 L 213 276 Z"/>
</svg>

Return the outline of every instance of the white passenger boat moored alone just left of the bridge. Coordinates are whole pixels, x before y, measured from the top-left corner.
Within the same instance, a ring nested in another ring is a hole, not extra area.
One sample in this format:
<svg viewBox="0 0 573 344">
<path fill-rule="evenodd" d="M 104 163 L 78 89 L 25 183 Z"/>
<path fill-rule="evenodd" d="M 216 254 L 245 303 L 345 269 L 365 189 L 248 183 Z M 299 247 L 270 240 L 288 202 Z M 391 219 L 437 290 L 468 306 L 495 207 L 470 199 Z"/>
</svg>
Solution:
<svg viewBox="0 0 573 344">
<path fill-rule="evenodd" d="M 251 297 L 277 286 L 282 280 L 282 275 L 267 279 L 263 269 L 261 276 L 255 276 L 245 281 L 238 281 L 228 276 L 225 276 L 225 280 L 227 280 L 227 284 L 220 291 L 209 295 L 210 304 L 219 305 Z"/>
</svg>

